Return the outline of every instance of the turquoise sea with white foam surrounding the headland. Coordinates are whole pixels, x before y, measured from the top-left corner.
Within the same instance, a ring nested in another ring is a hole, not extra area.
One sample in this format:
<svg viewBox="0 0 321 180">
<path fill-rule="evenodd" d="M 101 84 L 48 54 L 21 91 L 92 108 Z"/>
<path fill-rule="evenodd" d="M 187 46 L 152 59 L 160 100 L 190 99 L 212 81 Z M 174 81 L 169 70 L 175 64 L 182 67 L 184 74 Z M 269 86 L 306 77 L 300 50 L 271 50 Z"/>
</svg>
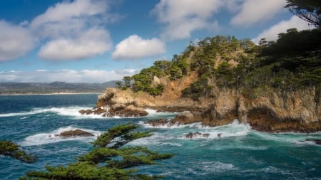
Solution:
<svg viewBox="0 0 321 180">
<path fill-rule="evenodd" d="M 67 164 L 91 149 L 96 137 L 54 137 L 68 129 L 84 129 L 96 136 L 109 127 L 127 122 L 153 130 L 151 137 L 128 145 L 141 145 L 175 157 L 156 166 L 141 166 L 140 172 L 163 174 L 165 179 L 321 179 L 321 146 L 305 142 L 321 139 L 312 134 L 257 132 L 235 120 L 221 127 L 200 124 L 149 127 L 146 120 L 170 119 L 174 113 L 148 110 L 148 117 L 106 118 L 79 115 L 78 110 L 95 105 L 97 95 L 0 96 L 0 139 L 10 139 L 39 155 L 34 164 L 0 157 L 0 179 L 18 179 L 26 171 Z M 185 138 L 190 132 L 209 137 Z M 218 137 L 218 134 L 222 134 Z"/>
</svg>

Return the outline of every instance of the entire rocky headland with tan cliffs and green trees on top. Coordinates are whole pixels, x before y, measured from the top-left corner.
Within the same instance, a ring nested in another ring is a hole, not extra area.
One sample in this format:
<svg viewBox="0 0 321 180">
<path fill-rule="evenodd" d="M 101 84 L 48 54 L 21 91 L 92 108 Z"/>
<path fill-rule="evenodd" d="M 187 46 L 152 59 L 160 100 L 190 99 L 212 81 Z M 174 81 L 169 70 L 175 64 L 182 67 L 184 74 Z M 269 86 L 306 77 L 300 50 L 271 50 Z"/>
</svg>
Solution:
<svg viewBox="0 0 321 180">
<path fill-rule="evenodd" d="M 151 125 L 238 119 L 260 131 L 320 131 L 321 29 L 289 29 L 278 37 L 259 46 L 233 36 L 205 38 L 124 77 L 124 86 L 108 88 L 93 110 L 81 113 L 136 117 L 150 108 L 184 112 Z"/>
</svg>

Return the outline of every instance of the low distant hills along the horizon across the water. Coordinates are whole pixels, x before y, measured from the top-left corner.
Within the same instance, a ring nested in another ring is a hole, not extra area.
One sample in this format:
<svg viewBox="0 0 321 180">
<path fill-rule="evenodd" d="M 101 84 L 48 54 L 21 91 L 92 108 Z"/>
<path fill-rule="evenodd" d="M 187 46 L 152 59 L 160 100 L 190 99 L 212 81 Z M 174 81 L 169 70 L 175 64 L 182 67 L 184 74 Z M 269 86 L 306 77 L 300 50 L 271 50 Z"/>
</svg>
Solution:
<svg viewBox="0 0 321 180">
<path fill-rule="evenodd" d="M 0 83 L 0 95 L 5 94 L 49 94 L 49 93 L 101 93 L 115 87 L 116 80 L 106 83 Z"/>
</svg>

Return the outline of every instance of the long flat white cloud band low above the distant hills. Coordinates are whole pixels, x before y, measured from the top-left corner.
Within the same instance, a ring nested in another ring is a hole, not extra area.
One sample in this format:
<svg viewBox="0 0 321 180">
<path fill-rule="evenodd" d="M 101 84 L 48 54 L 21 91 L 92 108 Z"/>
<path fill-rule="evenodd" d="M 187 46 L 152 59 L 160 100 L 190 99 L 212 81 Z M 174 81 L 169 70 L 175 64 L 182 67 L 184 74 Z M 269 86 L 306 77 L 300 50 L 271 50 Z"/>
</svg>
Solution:
<svg viewBox="0 0 321 180">
<path fill-rule="evenodd" d="M 63 80 L 66 83 L 104 83 L 121 80 L 137 70 L 35 70 L 0 72 L 0 82 L 51 83 Z"/>
</svg>

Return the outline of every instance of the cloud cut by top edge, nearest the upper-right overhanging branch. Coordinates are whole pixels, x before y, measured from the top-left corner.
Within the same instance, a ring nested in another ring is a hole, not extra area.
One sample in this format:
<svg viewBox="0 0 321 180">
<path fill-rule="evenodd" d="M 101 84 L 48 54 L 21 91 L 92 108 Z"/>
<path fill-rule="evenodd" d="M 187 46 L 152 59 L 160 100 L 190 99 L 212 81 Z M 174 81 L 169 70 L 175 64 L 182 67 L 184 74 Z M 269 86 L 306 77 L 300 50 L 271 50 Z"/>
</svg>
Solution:
<svg viewBox="0 0 321 180">
<path fill-rule="evenodd" d="M 250 26 L 269 20 L 277 13 L 285 11 L 285 5 L 285 0 L 245 0 L 240 12 L 232 18 L 230 23 L 237 26 Z"/>
</svg>

